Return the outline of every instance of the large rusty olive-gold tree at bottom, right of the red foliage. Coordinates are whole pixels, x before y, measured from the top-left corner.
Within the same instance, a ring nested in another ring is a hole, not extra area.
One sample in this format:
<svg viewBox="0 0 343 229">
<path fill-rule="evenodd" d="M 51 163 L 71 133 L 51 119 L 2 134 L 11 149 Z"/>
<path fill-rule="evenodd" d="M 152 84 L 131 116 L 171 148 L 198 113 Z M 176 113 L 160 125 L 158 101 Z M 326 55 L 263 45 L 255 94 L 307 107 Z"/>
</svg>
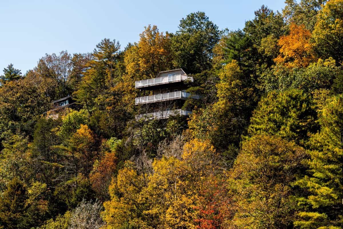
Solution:
<svg viewBox="0 0 343 229">
<path fill-rule="evenodd" d="M 237 228 L 289 228 L 296 216 L 292 183 L 305 150 L 280 137 L 256 135 L 245 141 L 232 170 L 230 187 Z"/>
</svg>

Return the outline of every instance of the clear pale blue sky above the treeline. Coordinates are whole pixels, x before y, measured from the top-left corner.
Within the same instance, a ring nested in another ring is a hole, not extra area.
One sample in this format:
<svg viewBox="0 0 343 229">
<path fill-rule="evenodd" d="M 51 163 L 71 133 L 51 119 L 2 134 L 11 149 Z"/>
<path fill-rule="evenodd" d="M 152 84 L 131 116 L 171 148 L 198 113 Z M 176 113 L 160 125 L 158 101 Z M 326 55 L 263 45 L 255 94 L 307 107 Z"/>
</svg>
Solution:
<svg viewBox="0 0 343 229">
<path fill-rule="evenodd" d="M 149 24 L 175 32 L 196 11 L 220 29 L 243 28 L 262 4 L 285 6 L 284 0 L 0 0 L 0 74 L 10 63 L 25 73 L 45 53 L 91 52 L 103 38 L 124 48 Z"/>
</svg>

